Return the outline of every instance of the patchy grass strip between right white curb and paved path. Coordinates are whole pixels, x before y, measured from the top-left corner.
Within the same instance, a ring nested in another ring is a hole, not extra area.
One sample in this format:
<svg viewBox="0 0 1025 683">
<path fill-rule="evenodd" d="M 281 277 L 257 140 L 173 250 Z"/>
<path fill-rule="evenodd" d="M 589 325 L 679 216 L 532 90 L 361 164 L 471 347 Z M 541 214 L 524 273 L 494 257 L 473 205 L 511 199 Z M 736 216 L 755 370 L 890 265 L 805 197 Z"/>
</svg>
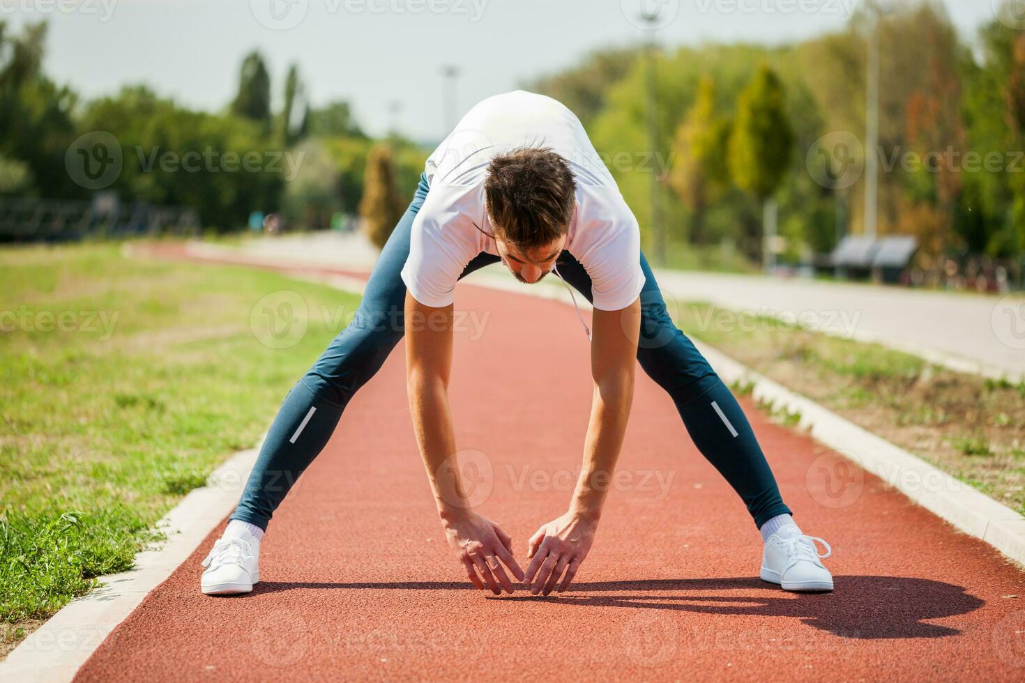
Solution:
<svg viewBox="0 0 1025 683">
<path fill-rule="evenodd" d="M 692 337 L 1025 514 L 1025 382 L 956 373 L 878 344 L 773 317 L 738 317 L 704 302 L 682 303 L 678 322 Z M 780 424 L 799 423 L 799 415 L 762 408 Z"/>
</svg>

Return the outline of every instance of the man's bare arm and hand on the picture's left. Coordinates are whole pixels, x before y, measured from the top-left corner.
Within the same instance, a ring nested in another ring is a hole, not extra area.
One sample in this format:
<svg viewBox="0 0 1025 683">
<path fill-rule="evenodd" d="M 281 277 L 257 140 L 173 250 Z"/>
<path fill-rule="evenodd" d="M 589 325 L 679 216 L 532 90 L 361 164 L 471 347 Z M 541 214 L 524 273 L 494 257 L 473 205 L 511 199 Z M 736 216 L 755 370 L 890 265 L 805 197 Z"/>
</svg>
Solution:
<svg viewBox="0 0 1025 683">
<path fill-rule="evenodd" d="M 483 589 L 483 578 L 495 595 L 502 588 L 511 593 L 512 583 L 502 563 L 523 580 L 511 554 L 512 542 L 497 524 L 470 510 L 459 478 L 448 400 L 452 305 L 432 308 L 407 293 L 405 312 L 409 412 L 445 537 L 474 586 Z"/>
</svg>

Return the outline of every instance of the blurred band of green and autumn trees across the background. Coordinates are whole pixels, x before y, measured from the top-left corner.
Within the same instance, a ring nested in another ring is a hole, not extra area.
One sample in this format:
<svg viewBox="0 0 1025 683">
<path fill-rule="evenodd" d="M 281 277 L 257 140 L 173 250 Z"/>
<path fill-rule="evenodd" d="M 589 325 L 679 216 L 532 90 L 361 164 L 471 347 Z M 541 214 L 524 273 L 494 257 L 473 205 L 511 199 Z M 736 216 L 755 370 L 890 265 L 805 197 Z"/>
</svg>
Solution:
<svg viewBox="0 0 1025 683">
<path fill-rule="evenodd" d="M 965 254 L 1014 262 L 1025 249 L 1025 32 L 1009 24 L 994 18 L 978 35 L 959 35 L 932 0 L 891 2 L 880 18 L 878 233 L 914 236 L 927 265 Z M 862 10 L 842 31 L 780 46 L 613 47 L 523 85 L 580 117 L 649 249 L 655 175 L 670 264 L 681 264 L 672 254 L 702 247 L 756 263 L 769 202 L 778 207 L 783 259 L 807 262 L 863 229 L 864 177 L 823 186 L 808 153 L 836 131 L 864 140 L 871 26 Z M 191 111 L 142 85 L 84 101 L 46 76 L 45 43 L 44 24 L 17 34 L 0 24 L 0 197 L 89 199 L 69 177 L 65 154 L 79 135 L 104 130 L 124 151 L 110 188 L 122 201 L 188 206 L 217 231 L 243 229 L 252 211 L 280 213 L 289 229 L 320 229 L 358 215 L 361 204 L 392 215 L 392 195 L 408 201 L 439 142 L 370 139 L 348 102 L 313 106 L 297 65 L 273 83 L 256 51 L 221 112 Z M 657 84 L 654 138 L 647 58 Z M 294 173 L 142 164 L 151 150 L 206 148 L 288 153 L 298 163 Z M 854 152 L 863 164 L 866 152 Z M 969 153 L 982 161 L 973 165 Z M 939 162 L 908 165 L 909 154 Z M 394 189 L 367 188 L 375 178 Z M 364 202 L 367 193 L 378 199 Z"/>
</svg>

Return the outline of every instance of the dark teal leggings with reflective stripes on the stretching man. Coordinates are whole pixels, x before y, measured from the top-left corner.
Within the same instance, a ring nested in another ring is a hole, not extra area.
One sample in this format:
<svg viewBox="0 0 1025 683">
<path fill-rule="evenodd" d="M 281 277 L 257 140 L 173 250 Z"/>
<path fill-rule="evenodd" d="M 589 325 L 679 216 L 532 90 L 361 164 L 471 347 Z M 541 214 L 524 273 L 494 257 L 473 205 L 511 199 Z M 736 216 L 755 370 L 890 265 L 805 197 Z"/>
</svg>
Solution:
<svg viewBox="0 0 1025 683">
<path fill-rule="evenodd" d="M 285 397 L 231 519 L 266 528 L 296 479 L 324 449 L 350 399 L 402 339 L 406 285 L 399 273 L 409 255 L 413 217 L 427 190 L 421 176 L 412 204 L 381 251 L 353 322 Z M 461 276 L 498 260 L 481 253 Z M 591 299 L 590 278 L 579 261 L 564 251 L 557 267 L 567 283 Z M 638 344 L 641 367 L 668 392 L 695 445 L 737 492 L 757 526 L 789 513 L 740 405 L 672 323 L 643 254 L 641 267 L 645 274 Z"/>
</svg>

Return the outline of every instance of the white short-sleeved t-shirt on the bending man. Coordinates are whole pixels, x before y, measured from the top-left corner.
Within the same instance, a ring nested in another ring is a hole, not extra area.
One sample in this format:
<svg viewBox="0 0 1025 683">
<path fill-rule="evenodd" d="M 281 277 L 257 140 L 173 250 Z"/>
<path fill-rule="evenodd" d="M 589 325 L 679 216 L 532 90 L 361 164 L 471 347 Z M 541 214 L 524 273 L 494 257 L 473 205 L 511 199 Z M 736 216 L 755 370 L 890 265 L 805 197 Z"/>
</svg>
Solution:
<svg viewBox="0 0 1025 683">
<path fill-rule="evenodd" d="M 645 282 L 637 218 L 576 116 L 523 90 L 479 102 L 427 159 L 430 189 L 413 220 L 402 269 L 410 294 L 425 306 L 447 306 L 466 264 L 481 252 L 497 254 L 484 180 L 492 157 L 521 146 L 550 147 L 573 171 L 576 209 L 565 249 L 590 275 L 594 307 L 633 303 Z"/>
</svg>

